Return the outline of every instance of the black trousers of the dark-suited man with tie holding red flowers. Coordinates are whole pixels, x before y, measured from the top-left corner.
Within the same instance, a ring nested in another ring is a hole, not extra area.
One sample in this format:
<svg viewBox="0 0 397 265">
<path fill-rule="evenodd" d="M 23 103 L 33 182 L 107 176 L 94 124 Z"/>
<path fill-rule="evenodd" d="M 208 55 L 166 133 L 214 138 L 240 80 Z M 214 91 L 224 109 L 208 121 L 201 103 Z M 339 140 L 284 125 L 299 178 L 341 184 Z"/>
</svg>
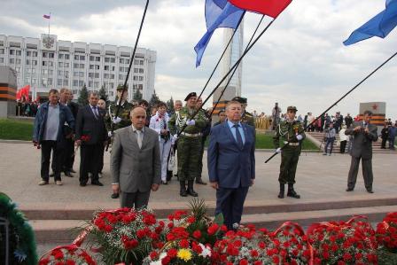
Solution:
<svg viewBox="0 0 397 265">
<path fill-rule="evenodd" d="M 80 183 L 87 183 L 89 180 L 89 172 L 92 174 L 91 182 L 98 180 L 98 166 L 101 154 L 100 144 L 82 144 L 80 147 Z"/>
</svg>

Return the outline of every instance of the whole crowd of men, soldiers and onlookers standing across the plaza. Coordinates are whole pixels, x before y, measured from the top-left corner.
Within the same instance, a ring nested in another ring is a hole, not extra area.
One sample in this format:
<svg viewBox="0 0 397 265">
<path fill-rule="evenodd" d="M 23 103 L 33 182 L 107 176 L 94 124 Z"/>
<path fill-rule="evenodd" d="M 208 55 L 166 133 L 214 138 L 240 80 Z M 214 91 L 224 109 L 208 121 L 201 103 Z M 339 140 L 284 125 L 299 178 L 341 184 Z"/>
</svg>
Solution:
<svg viewBox="0 0 397 265">
<path fill-rule="evenodd" d="M 210 136 L 207 167 L 210 185 L 216 190 L 216 213 L 222 213 L 233 229 L 241 220 L 245 197 L 255 178 L 254 122 L 258 115 L 246 111 L 246 98 L 232 98 L 225 109 L 218 110 L 219 121 L 214 124 L 213 110 L 204 110 L 195 92 L 184 98 L 185 105 L 176 100 L 173 112 L 161 101 L 152 108 L 145 100 L 129 103 L 122 88 L 117 90 L 117 98 L 106 105 L 97 92 L 90 92 L 88 105 L 79 106 L 72 101 L 70 90 L 50 90 L 49 101 L 40 105 L 35 115 L 33 142 L 42 149 L 39 185 L 49 184 L 51 176 L 62 185 L 62 172 L 74 177 L 74 157 L 80 149 L 80 186 L 89 181 L 103 186 L 104 153 L 111 146 L 111 197 L 120 197 L 121 207 L 146 207 L 151 191 L 167 185 L 173 176 L 181 197 L 198 197 L 194 185 L 206 185 L 202 179 L 203 153 Z M 324 154 L 331 155 L 337 134 L 341 152 L 345 152 L 347 142 L 352 143 L 346 191 L 354 190 L 362 159 L 365 186 L 372 193 L 371 143 L 378 140 L 377 127 L 370 124 L 372 114 L 364 113 L 363 121 L 354 121 L 348 113 L 345 118 L 336 113 L 315 120 L 311 113 L 297 117 L 297 111 L 289 106 L 283 115 L 278 104 L 272 110 L 274 145 L 282 157 L 278 198 L 284 198 L 284 186 L 288 185 L 286 195 L 300 199 L 294 183 L 305 131 L 325 133 Z M 396 124 L 385 124 L 382 139 L 385 135 L 390 146 L 395 134 Z M 351 138 L 354 141 L 349 141 Z"/>
</svg>

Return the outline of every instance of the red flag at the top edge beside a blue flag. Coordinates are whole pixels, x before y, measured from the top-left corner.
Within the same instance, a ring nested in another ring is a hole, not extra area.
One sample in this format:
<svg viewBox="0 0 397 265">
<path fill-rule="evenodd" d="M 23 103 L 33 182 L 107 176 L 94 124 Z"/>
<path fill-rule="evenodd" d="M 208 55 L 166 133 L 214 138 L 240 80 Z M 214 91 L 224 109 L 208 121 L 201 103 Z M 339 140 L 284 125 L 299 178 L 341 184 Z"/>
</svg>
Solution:
<svg viewBox="0 0 397 265">
<path fill-rule="evenodd" d="M 292 0 L 229 0 L 229 2 L 241 9 L 259 12 L 276 19 Z"/>
</svg>

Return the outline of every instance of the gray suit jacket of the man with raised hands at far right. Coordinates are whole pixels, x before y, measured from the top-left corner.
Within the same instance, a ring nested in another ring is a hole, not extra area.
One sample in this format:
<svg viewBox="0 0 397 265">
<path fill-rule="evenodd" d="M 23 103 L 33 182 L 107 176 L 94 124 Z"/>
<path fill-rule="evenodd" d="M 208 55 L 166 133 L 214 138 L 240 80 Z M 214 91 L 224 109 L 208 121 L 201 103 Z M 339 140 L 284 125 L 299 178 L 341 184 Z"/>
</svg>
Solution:
<svg viewBox="0 0 397 265">
<path fill-rule="evenodd" d="M 354 121 L 353 126 L 346 129 L 346 136 L 353 136 L 353 147 L 350 154 L 355 158 L 362 158 L 363 160 L 372 159 L 372 142 L 378 141 L 378 128 L 373 124 L 368 124 L 370 132 L 364 133 L 363 130 L 354 132 L 354 128 L 363 126 L 362 121 Z"/>
</svg>

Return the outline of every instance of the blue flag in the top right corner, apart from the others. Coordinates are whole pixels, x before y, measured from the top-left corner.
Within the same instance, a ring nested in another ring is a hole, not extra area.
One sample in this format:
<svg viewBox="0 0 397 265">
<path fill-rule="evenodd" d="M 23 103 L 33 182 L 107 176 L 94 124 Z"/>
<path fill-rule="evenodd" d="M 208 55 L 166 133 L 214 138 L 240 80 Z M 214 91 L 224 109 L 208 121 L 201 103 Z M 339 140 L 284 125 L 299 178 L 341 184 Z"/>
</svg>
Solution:
<svg viewBox="0 0 397 265">
<path fill-rule="evenodd" d="M 383 12 L 378 13 L 362 27 L 357 28 L 343 42 L 346 46 L 358 43 L 362 40 L 369 39 L 373 36 L 385 38 L 394 27 L 397 26 L 397 0 L 386 0 L 386 8 Z"/>
</svg>

